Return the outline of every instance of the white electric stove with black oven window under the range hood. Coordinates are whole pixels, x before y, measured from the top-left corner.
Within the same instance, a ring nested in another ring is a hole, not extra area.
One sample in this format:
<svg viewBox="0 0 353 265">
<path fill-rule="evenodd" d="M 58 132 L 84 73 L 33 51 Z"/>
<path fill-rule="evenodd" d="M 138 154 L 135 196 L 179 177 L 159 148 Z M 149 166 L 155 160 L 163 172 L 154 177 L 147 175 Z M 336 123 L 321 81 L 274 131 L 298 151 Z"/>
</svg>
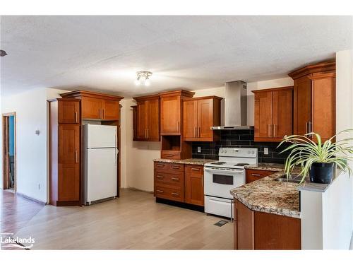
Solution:
<svg viewBox="0 0 353 265">
<path fill-rule="evenodd" d="M 257 148 L 220 148 L 217 162 L 204 165 L 205 213 L 234 218 L 231 189 L 245 184 L 245 165 L 258 164 Z"/>
</svg>

